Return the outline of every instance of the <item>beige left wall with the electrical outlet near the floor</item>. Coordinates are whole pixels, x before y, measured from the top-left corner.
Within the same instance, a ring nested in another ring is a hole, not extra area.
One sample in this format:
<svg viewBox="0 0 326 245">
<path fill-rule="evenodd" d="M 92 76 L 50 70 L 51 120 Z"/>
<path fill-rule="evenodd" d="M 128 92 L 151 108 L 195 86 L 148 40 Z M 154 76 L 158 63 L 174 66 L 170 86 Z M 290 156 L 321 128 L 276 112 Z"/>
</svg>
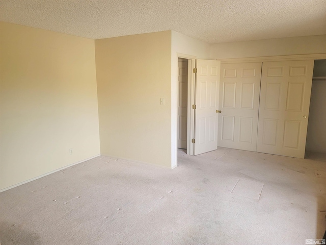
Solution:
<svg viewBox="0 0 326 245">
<path fill-rule="evenodd" d="M 99 129 L 94 40 L 5 22 L 0 30 L 4 189 L 99 154 Z"/>
</svg>

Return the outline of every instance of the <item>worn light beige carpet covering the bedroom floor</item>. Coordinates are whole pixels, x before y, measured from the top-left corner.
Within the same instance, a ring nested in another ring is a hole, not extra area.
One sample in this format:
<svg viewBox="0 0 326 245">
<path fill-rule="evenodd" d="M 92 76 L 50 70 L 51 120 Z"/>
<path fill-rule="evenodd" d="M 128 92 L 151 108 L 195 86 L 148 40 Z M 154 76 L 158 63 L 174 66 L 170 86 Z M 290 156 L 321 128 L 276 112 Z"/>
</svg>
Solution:
<svg viewBox="0 0 326 245">
<path fill-rule="evenodd" d="M 0 193 L 9 244 L 305 244 L 326 228 L 326 161 L 219 148 L 178 167 L 97 157 Z"/>
</svg>

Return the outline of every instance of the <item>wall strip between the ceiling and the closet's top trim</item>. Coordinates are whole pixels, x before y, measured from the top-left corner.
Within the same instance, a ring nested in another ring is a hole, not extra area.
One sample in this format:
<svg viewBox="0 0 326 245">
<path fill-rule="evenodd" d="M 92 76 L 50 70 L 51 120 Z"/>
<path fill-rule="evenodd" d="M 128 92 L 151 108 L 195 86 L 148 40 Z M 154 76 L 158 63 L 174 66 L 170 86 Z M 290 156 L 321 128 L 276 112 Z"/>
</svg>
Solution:
<svg viewBox="0 0 326 245">
<path fill-rule="evenodd" d="M 211 45 L 212 59 L 325 54 L 326 35 L 277 38 Z"/>
</svg>

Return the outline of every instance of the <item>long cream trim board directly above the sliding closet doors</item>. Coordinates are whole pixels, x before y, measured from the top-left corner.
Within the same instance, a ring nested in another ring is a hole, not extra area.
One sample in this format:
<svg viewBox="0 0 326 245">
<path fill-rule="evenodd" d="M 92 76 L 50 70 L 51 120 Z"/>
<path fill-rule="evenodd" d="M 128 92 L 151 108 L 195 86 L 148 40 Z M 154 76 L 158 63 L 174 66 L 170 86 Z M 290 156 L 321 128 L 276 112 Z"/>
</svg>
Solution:
<svg viewBox="0 0 326 245">
<path fill-rule="evenodd" d="M 247 62 L 323 60 L 323 59 L 326 59 L 326 54 L 282 55 L 282 56 L 265 56 L 265 57 L 233 58 L 233 59 L 218 59 L 218 60 L 221 61 L 221 64 L 229 64 L 229 63 L 247 63 Z"/>
</svg>

